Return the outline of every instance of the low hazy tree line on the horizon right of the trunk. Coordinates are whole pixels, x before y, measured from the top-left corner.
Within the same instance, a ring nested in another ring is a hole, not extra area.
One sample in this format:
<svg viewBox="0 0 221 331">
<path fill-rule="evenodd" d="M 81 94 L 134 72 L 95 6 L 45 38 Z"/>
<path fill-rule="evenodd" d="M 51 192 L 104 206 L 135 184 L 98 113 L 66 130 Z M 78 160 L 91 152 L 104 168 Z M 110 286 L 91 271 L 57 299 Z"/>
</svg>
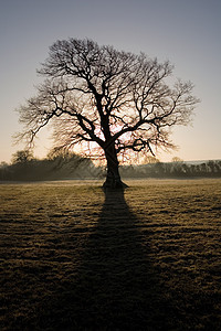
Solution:
<svg viewBox="0 0 221 331">
<path fill-rule="evenodd" d="M 221 177 L 221 160 L 202 163 L 151 162 L 141 166 L 127 166 L 120 168 L 122 177 L 128 178 L 219 178 Z"/>
</svg>

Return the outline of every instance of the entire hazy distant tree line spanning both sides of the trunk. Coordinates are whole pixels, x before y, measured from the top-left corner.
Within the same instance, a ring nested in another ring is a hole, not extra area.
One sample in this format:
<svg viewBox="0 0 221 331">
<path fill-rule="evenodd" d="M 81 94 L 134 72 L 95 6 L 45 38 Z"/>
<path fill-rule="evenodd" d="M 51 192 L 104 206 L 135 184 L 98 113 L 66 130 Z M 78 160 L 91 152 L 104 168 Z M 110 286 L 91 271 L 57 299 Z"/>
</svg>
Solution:
<svg viewBox="0 0 221 331">
<path fill-rule="evenodd" d="M 219 178 L 221 160 L 187 163 L 179 158 L 172 162 L 160 162 L 154 157 L 146 164 L 122 166 L 123 178 Z M 0 163 L 1 181 L 40 181 L 61 179 L 98 179 L 105 177 L 104 167 L 95 167 L 88 158 L 75 153 L 52 151 L 39 160 L 29 150 L 17 151 L 10 164 Z"/>
</svg>

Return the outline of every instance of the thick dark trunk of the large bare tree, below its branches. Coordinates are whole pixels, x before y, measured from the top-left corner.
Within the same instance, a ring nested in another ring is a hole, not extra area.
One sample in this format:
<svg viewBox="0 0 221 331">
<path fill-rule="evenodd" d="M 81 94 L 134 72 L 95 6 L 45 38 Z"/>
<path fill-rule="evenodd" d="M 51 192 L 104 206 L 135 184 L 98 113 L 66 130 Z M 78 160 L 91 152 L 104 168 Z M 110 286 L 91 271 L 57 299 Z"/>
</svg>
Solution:
<svg viewBox="0 0 221 331">
<path fill-rule="evenodd" d="M 107 175 L 103 186 L 109 189 L 127 188 L 127 185 L 122 182 L 119 175 L 119 162 L 117 160 L 117 153 L 114 143 L 105 150 L 105 156 L 107 160 Z"/>
</svg>

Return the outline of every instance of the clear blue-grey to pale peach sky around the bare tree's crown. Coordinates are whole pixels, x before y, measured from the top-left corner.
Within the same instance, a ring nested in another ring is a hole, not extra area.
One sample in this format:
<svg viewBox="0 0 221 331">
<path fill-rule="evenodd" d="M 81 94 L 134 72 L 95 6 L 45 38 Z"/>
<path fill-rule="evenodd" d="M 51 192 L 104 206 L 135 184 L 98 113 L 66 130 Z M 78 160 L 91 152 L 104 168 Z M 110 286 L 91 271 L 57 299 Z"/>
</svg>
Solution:
<svg viewBox="0 0 221 331">
<path fill-rule="evenodd" d="M 191 81 L 201 103 L 192 125 L 172 131 L 179 149 L 157 157 L 221 159 L 220 17 L 220 0 L 0 0 L 0 162 L 24 148 L 13 146 L 22 129 L 14 109 L 35 95 L 49 46 L 69 38 L 169 60 L 175 77 Z M 44 129 L 35 157 L 45 157 L 51 146 Z"/>
</svg>

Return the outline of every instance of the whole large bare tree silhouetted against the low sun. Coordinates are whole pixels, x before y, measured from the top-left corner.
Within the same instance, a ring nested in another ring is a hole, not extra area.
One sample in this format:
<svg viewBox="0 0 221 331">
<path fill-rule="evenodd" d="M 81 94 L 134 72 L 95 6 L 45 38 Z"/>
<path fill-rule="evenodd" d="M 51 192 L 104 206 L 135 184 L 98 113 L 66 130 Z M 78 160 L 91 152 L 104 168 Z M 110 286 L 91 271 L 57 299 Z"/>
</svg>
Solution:
<svg viewBox="0 0 221 331">
<path fill-rule="evenodd" d="M 178 79 L 172 66 L 145 54 L 119 52 L 92 40 L 55 42 L 39 73 L 45 77 L 36 97 L 20 107 L 21 132 L 30 142 L 52 122 L 55 147 L 106 158 L 106 186 L 122 186 L 119 156 L 172 148 L 170 128 L 187 125 L 198 99 L 192 84 Z"/>
</svg>

